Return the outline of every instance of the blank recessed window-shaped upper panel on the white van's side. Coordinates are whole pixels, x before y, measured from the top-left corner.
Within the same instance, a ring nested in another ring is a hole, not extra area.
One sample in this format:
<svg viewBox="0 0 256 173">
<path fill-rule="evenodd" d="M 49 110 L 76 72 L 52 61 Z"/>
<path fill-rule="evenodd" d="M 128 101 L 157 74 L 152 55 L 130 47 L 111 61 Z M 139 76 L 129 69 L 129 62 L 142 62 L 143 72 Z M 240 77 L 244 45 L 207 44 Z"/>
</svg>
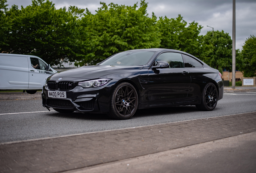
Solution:
<svg viewBox="0 0 256 173">
<path fill-rule="evenodd" d="M 14 67 L 28 68 L 26 56 L 0 55 L 0 64 L 2 66 L 14 66 Z"/>
</svg>

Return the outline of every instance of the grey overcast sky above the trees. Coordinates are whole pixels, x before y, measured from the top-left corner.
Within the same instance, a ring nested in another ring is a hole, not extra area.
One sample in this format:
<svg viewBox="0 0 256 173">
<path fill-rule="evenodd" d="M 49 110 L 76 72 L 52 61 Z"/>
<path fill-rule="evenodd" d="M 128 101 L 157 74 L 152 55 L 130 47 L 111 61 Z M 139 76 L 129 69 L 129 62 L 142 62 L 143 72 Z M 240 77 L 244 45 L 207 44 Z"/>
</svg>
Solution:
<svg viewBox="0 0 256 173">
<path fill-rule="evenodd" d="M 7 0 L 8 7 L 12 4 L 26 7 L 32 4 L 31 0 Z M 52 0 L 57 9 L 64 6 L 77 6 L 78 8 L 88 8 L 95 14 L 101 5 L 99 2 L 109 4 L 113 2 L 118 5 L 132 6 L 140 1 L 138 0 Z M 178 14 L 183 19 L 190 22 L 198 22 L 202 25 L 201 34 L 205 35 L 207 31 L 223 30 L 228 32 L 232 38 L 232 14 L 233 0 L 146 0 L 148 2 L 147 12 L 151 16 L 152 12 L 157 17 L 167 16 L 176 18 Z M 250 35 L 256 36 L 256 0 L 236 0 L 236 49 L 242 50 L 246 38 Z"/>
</svg>

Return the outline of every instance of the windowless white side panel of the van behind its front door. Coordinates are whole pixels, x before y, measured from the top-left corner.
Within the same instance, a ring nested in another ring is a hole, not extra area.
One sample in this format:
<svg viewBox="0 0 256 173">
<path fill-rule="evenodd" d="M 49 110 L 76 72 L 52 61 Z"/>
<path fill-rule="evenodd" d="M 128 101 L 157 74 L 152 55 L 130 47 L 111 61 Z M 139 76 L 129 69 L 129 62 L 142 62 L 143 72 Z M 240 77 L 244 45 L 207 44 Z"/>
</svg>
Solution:
<svg viewBox="0 0 256 173">
<path fill-rule="evenodd" d="M 27 56 L 0 54 L 0 89 L 27 89 L 29 69 Z"/>
</svg>

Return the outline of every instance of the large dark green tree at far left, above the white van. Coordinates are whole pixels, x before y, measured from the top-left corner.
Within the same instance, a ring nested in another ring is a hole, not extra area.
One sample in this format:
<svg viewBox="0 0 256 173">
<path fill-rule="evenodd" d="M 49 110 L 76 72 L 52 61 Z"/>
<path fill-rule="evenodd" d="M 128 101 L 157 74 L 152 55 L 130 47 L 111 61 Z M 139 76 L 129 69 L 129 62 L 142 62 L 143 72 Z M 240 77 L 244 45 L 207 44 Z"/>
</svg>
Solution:
<svg viewBox="0 0 256 173">
<path fill-rule="evenodd" d="M 79 59 L 84 56 L 80 12 L 74 7 L 56 10 L 49 0 L 32 0 L 21 10 L 12 6 L 6 15 L 14 19 L 13 27 L 2 51 L 36 55 L 50 64 Z"/>
</svg>

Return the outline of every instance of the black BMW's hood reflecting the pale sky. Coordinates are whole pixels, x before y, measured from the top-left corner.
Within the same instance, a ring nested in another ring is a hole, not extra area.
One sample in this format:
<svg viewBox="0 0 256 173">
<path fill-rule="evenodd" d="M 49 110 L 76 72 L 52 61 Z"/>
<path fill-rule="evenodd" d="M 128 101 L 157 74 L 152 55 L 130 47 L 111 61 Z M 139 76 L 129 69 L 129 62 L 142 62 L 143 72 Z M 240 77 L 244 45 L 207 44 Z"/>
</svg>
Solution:
<svg viewBox="0 0 256 173">
<path fill-rule="evenodd" d="M 82 66 L 57 72 L 52 75 L 52 77 L 95 79 L 108 74 L 130 72 L 133 70 L 140 70 L 142 68 L 143 66 Z"/>
</svg>

